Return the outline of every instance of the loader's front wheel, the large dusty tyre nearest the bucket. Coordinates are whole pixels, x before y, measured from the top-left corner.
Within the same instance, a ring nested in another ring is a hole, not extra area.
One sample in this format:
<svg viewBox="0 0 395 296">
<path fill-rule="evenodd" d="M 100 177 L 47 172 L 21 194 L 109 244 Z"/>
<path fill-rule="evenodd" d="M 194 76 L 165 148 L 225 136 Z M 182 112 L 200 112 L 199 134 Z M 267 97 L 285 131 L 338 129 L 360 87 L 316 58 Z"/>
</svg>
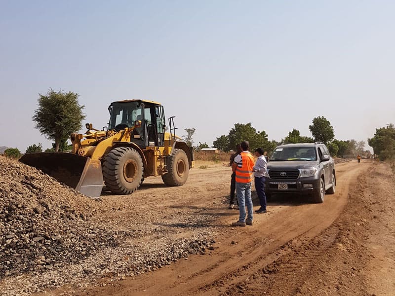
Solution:
<svg viewBox="0 0 395 296">
<path fill-rule="evenodd" d="M 111 150 L 103 163 L 103 179 L 115 194 L 130 194 L 144 180 L 144 165 L 140 154 L 129 147 Z"/>
</svg>

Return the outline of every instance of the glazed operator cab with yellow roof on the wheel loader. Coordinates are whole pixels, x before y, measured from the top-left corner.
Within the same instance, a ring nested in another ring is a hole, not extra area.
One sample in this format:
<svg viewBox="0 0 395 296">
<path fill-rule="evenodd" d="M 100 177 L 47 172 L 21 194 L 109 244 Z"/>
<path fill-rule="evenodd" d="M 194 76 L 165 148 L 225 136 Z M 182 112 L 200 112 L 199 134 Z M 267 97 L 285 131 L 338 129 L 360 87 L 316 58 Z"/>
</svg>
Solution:
<svg viewBox="0 0 395 296">
<path fill-rule="evenodd" d="M 109 130 L 120 131 L 134 126 L 136 120 L 141 127 L 131 135 L 131 141 L 141 148 L 164 146 L 166 120 L 164 109 L 159 103 L 146 100 L 126 100 L 113 102 L 108 108 L 110 112 Z"/>
</svg>

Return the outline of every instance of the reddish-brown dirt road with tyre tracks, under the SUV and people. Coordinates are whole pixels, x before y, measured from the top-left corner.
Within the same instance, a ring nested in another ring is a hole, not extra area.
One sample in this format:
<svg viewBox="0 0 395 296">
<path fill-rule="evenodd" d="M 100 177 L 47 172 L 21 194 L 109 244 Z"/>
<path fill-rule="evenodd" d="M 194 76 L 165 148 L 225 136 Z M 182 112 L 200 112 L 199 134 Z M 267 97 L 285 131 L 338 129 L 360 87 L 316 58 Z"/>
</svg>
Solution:
<svg viewBox="0 0 395 296">
<path fill-rule="evenodd" d="M 220 233 L 215 250 L 78 294 L 393 295 L 395 191 L 386 165 L 339 164 L 337 192 L 323 204 L 279 197 L 241 228 L 229 226 L 237 211 L 226 209 L 228 171 L 196 169 L 187 185 L 170 190 L 147 181 L 133 195 L 141 211 L 204 210 Z"/>
</svg>

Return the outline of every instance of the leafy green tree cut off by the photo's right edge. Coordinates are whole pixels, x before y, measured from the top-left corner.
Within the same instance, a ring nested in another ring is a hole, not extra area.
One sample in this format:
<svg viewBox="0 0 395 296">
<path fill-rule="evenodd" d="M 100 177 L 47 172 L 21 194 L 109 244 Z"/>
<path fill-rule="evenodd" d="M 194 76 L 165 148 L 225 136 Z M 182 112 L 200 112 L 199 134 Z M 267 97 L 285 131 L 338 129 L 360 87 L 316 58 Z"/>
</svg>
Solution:
<svg viewBox="0 0 395 296">
<path fill-rule="evenodd" d="M 394 124 L 376 128 L 374 137 L 368 139 L 367 142 L 369 146 L 373 147 L 374 153 L 379 155 L 381 160 L 385 160 L 389 156 L 389 151 L 392 149 L 393 142 L 391 139 L 395 140 Z"/>
</svg>

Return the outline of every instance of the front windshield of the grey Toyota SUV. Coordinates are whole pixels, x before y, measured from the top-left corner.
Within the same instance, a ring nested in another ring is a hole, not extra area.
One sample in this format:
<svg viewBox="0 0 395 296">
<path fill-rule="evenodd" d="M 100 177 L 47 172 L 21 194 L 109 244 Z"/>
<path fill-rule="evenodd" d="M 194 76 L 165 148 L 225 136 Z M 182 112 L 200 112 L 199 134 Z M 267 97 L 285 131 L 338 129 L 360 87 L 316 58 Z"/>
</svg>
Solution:
<svg viewBox="0 0 395 296">
<path fill-rule="evenodd" d="M 317 160 L 314 147 L 279 147 L 273 152 L 270 161 Z"/>
</svg>

